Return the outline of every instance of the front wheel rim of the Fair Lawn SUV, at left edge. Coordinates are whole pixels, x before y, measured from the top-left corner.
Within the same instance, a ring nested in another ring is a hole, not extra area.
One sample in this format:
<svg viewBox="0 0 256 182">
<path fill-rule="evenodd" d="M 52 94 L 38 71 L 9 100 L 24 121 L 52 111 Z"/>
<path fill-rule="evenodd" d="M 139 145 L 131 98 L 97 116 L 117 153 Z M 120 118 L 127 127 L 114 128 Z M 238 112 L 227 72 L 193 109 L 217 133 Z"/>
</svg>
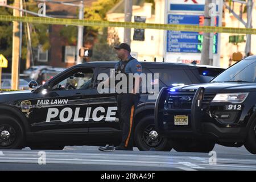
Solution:
<svg viewBox="0 0 256 182">
<path fill-rule="evenodd" d="M 9 147 L 16 139 L 16 131 L 10 125 L 0 125 L 0 146 Z"/>
</svg>

